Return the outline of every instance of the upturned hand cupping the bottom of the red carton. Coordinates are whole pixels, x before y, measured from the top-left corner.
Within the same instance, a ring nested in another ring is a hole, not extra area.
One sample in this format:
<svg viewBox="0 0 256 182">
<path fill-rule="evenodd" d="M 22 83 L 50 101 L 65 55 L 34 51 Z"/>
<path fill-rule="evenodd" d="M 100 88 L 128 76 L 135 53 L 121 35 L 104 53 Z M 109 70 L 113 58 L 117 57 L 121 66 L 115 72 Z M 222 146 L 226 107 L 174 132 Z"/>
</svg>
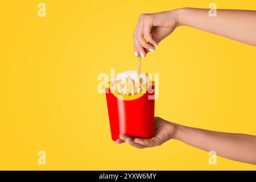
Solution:
<svg viewBox="0 0 256 182">
<path fill-rule="evenodd" d="M 174 123 L 168 122 L 160 117 L 155 117 L 154 126 L 154 137 L 151 139 L 132 138 L 126 134 L 120 134 L 120 138 L 115 140 L 115 143 L 119 144 L 126 142 L 136 148 L 146 148 L 160 146 L 167 140 L 175 138 L 177 130 Z"/>
</svg>

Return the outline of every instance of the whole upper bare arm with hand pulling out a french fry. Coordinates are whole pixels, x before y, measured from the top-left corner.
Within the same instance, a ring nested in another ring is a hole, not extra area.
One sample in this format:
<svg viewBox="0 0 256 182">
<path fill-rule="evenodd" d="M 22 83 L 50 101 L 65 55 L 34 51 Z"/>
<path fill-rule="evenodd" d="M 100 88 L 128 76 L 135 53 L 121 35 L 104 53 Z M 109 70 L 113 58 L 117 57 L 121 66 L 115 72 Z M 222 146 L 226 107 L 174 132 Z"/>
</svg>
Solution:
<svg viewBox="0 0 256 182">
<path fill-rule="evenodd" d="M 135 56 L 144 57 L 154 52 L 155 46 L 179 26 L 198 28 L 256 46 L 256 11 L 217 10 L 217 16 L 210 17 L 209 9 L 182 8 L 139 16 L 133 35 Z"/>
</svg>

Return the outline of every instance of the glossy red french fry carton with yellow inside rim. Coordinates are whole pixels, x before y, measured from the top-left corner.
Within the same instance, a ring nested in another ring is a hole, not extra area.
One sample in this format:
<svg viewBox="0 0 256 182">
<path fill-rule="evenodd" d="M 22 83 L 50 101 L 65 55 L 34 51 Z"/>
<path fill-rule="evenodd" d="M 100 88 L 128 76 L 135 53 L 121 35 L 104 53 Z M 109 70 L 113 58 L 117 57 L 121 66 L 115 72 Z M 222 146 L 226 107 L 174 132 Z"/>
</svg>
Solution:
<svg viewBox="0 0 256 182">
<path fill-rule="evenodd" d="M 106 102 L 112 140 L 123 133 L 130 137 L 152 138 L 154 136 L 154 81 L 150 81 L 146 93 L 122 96 L 106 84 Z"/>
</svg>

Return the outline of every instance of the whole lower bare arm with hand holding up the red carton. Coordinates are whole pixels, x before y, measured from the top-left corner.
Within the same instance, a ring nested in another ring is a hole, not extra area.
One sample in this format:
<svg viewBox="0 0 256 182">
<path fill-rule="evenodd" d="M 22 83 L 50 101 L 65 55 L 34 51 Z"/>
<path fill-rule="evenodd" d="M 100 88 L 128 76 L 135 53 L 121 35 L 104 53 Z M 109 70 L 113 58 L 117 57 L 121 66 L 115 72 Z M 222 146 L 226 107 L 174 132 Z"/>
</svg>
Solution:
<svg viewBox="0 0 256 182">
<path fill-rule="evenodd" d="M 180 140 L 205 151 L 215 151 L 218 156 L 256 165 L 256 136 L 236 133 L 222 133 L 196 129 L 168 122 L 155 117 L 154 137 L 151 139 L 132 138 L 120 135 L 116 143 L 127 142 L 133 147 L 160 146 L 170 139 Z"/>
</svg>

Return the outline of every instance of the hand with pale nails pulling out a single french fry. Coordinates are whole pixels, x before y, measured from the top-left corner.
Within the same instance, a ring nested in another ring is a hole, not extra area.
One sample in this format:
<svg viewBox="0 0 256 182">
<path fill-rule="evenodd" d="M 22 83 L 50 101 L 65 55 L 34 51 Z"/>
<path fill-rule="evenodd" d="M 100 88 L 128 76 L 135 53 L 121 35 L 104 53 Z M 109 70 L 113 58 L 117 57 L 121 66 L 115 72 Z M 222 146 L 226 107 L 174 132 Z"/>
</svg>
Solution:
<svg viewBox="0 0 256 182">
<path fill-rule="evenodd" d="M 174 31 L 179 24 L 177 12 L 178 10 L 172 10 L 139 16 L 133 35 L 136 57 L 144 57 L 149 51 L 154 52 L 155 46 Z"/>
</svg>

